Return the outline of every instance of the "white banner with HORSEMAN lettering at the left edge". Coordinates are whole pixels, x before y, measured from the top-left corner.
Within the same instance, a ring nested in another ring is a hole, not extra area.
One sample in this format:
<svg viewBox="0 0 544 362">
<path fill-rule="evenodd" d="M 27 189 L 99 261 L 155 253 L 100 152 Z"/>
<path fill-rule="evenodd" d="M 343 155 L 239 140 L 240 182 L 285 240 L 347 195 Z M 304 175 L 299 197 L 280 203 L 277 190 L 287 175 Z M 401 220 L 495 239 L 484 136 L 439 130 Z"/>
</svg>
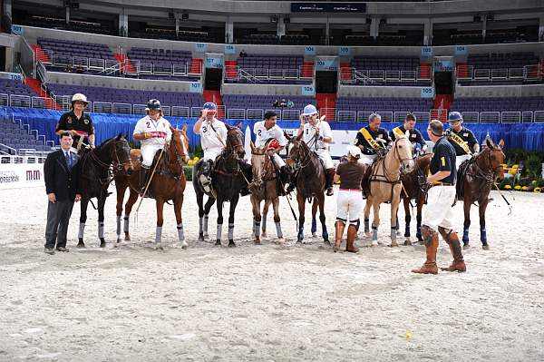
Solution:
<svg viewBox="0 0 544 362">
<path fill-rule="evenodd" d="M 44 163 L 0 163 L 0 190 L 44 186 Z"/>
</svg>

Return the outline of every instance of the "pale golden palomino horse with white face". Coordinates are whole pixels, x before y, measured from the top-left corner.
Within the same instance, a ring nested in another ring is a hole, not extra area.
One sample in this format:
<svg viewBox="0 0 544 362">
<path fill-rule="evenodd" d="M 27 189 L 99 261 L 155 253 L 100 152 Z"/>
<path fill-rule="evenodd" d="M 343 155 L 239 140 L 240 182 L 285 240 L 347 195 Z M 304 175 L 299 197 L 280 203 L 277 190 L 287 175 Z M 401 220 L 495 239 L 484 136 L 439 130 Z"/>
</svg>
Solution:
<svg viewBox="0 0 544 362">
<path fill-rule="evenodd" d="M 372 220 L 372 246 L 378 245 L 378 226 L 380 225 L 380 204 L 391 202 L 391 246 L 398 246 L 396 241 L 397 211 L 401 202 L 401 166 L 404 171 L 413 170 L 412 144 L 408 139 L 408 132 L 397 136 L 389 152 L 376 159 L 370 173 L 370 194 L 364 205 L 364 233 L 370 236 L 369 216 L 370 208 L 374 210 Z"/>
</svg>

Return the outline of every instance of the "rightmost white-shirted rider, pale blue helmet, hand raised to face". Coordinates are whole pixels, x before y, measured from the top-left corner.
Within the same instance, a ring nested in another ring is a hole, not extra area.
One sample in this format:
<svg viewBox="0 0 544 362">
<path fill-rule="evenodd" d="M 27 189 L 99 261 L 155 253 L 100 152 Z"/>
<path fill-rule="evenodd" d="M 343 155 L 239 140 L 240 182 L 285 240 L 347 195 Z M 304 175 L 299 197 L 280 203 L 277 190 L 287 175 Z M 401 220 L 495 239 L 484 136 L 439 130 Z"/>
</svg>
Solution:
<svg viewBox="0 0 544 362">
<path fill-rule="evenodd" d="M 323 162 L 326 195 L 332 196 L 335 193 L 333 191 L 335 165 L 328 152 L 328 144 L 333 142 L 333 132 L 331 132 L 329 124 L 325 122 L 325 116 L 321 117 L 321 119 L 317 117 L 316 106 L 313 104 L 306 105 L 303 113 L 300 115 L 300 128 L 298 129 L 297 136 L 300 137 L 302 135 L 303 141 L 306 142 L 310 150 L 317 153 L 317 156 Z"/>
</svg>

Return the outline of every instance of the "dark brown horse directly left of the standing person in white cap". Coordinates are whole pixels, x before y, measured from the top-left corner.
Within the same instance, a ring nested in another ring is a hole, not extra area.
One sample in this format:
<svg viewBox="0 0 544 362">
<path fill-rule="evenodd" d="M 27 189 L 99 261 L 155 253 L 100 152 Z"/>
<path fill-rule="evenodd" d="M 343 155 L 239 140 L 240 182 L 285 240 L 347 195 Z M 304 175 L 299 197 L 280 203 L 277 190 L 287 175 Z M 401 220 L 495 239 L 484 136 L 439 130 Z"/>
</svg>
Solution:
<svg viewBox="0 0 544 362">
<path fill-rule="evenodd" d="M 287 137 L 287 172 L 291 180 L 296 179 L 296 202 L 298 203 L 298 233 L 296 244 L 302 244 L 304 240 L 304 221 L 306 200 L 312 203 L 312 235 L 316 236 L 316 213 L 319 208 L 319 220 L 321 221 L 321 236 L 325 245 L 330 246 L 328 232 L 325 225 L 325 170 L 319 157 L 312 152 L 306 142 L 301 141 L 302 134 Z"/>
</svg>

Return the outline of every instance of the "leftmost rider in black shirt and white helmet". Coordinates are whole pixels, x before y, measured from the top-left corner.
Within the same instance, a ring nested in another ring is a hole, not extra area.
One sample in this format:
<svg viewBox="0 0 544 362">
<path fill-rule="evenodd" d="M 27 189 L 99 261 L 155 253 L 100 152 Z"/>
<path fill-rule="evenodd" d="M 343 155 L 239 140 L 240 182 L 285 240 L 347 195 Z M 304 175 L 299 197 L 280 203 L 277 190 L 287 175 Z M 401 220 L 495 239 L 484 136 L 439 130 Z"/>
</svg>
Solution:
<svg viewBox="0 0 544 362">
<path fill-rule="evenodd" d="M 89 102 L 85 94 L 73 94 L 71 111 L 63 113 L 54 131 L 59 136 L 64 132 L 72 134 L 72 152 L 79 152 L 83 142 L 94 148 L 94 126 L 92 119 L 89 114 L 83 112 L 87 104 Z"/>
</svg>

